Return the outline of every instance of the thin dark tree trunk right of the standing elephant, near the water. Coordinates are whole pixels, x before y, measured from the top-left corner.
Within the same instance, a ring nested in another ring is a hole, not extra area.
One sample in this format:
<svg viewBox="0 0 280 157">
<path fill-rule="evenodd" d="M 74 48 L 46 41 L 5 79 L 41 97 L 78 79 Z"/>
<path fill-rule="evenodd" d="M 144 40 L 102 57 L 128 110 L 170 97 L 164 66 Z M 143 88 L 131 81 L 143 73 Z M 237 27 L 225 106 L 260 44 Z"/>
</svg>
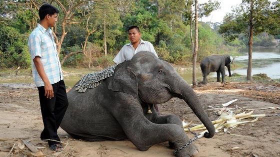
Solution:
<svg viewBox="0 0 280 157">
<path fill-rule="evenodd" d="M 253 17 L 252 17 L 253 1 L 250 3 L 250 30 L 249 30 L 249 41 L 248 41 L 248 67 L 247 67 L 247 82 L 252 82 L 252 47 L 253 47 Z"/>
</svg>

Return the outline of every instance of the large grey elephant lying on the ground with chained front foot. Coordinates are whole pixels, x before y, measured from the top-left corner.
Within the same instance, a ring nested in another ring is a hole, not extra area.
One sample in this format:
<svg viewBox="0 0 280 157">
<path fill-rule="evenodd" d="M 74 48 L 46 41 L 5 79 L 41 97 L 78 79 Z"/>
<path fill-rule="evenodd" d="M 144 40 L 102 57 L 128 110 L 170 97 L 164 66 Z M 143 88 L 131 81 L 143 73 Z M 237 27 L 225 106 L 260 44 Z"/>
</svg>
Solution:
<svg viewBox="0 0 280 157">
<path fill-rule="evenodd" d="M 69 106 L 60 127 L 70 136 L 86 141 L 130 140 L 140 151 L 169 142 L 175 156 L 198 153 L 175 115 L 159 115 L 153 104 L 172 97 L 183 99 L 212 138 L 215 129 L 186 81 L 167 62 L 149 52 L 138 52 L 129 61 L 116 65 L 111 77 L 95 88 L 68 93 Z M 151 110 L 152 113 L 148 113 Z"/>
</svg>

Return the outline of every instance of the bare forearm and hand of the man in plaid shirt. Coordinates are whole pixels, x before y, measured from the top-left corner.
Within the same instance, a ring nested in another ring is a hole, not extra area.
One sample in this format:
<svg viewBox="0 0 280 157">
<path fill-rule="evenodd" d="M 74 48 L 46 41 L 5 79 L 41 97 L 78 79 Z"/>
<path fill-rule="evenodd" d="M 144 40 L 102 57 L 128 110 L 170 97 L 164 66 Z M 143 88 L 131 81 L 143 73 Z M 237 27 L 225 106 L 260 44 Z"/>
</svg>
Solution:
<svg viewBox="0 0 280 157">
<path fill-rule="evenodd" d="M 41 77 L 41 79 L 43 80 L 44 82 L 44 96 L 46 96 L 46 98 L 53 98 L 53 89 L 52 89 L 52 86 L 44 72 L 44 69 L 43 69 L 43 65 L 42 65 L 42 62 L 41 62 L 41 58 L 39 56 L 35 56 L 35 58 L 33 59 L 33 62 L 34 62 L 34 65 L 37 69 L 37 72 L 39 74 L 39 76 Z"/>
</svg>

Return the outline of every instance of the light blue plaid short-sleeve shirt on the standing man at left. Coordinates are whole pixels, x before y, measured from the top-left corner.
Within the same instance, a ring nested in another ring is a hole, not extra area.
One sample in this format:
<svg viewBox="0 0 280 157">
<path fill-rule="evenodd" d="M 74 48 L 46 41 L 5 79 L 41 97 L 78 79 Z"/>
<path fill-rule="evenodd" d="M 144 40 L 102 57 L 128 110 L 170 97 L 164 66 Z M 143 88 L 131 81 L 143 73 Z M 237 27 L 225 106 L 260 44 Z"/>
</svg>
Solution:
<svg viewBox="0 0 280 157">
<path fill-rule="evenodd" d="M 39 56 L 50 84 L 63 80 L 63 74 L 59 57 L 56 50 L 54 36 L 51 34 L 50 28 L 45 29 L 40 24 L 31 32 L 28 37 L 28 48 L 31 55 L 32 75 L 37 87 L 44 86 L 43 80 L 40 78 L 33 59 Z"/>
</svg>

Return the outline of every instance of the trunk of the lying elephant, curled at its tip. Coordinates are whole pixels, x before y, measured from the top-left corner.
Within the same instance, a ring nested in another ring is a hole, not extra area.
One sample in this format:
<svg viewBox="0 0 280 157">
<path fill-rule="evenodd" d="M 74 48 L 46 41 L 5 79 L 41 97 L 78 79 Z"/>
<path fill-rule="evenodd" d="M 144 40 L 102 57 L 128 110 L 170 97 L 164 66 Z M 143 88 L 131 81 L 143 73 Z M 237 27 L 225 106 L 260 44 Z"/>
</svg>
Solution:
<svg viewBox="0 0 280 157">
<path fill-rule="evenodd" d="M 204 109 L 202 108 L 200 101 L 198 100 L 192 88 L 186 83 L 186 81 L 183 78 L 180 78 L 177 81 L 175 80 L 174 82 L 176 83 L 173 86 L 174 89 L 172 90 L 174 91 L 172 92 L 176 93 L 178 98 L 181 98 L 186 102 L 186 104 L 190 107 L 190 109 L 206 127 L 208 133 L 206 132 L 204 134 L 204 137 L 212 138 L 215 134 L 214 125 L 204 112 Z"/>
</svg>

